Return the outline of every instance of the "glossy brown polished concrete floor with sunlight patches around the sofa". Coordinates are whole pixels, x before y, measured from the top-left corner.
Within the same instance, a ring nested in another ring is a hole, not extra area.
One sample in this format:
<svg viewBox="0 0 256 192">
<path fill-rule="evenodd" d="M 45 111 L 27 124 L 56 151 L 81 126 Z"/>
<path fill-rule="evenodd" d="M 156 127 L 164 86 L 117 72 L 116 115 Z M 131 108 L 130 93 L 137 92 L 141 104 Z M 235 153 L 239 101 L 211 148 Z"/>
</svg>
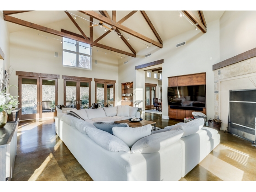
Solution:
<svg viewBox="0 0 256 192">
<path fill-rule="evenodd" d="M 178 121 L 144 113 L 164 128 Z M 180 181 L 256 181 L 256 147 L 224 131 L 220 144 Z M 20 123 L 12 181 L 92 181 L 55 133 L 53 119 Z"/>
</svg>

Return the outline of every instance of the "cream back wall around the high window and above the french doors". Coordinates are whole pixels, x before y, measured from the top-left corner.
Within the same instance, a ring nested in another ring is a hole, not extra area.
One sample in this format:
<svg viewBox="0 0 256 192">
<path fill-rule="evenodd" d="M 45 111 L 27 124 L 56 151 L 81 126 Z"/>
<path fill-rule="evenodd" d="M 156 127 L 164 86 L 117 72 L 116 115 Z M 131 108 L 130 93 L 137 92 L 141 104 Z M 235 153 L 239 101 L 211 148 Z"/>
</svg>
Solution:
<svg viewBox="0 0 256 192">
<path fill-rule="evenodd" d="M 59 21 L 47 25 L 56 30 L 64 26 L 64 29 L 77 32 L 76 27 L 70 20 Z M 92 70 L 76 69 L 64 67 L 62 65 L 62 44 L 54 39 L 39 36 L 37 30 L 27 28 L 26 30 L 13 32 L 10 34 L 10 50 L 11 50 L 11 67 L 14 71 L 27 71 L 47 74 L 60 75 L 58 80 L 58 104 L 64 103 L 64 80 L 62 75 L 90 77 L 107 80 L 118 80 L 117 59 L 112 55 L 105 55 L 105 53 L 97 53 L 97 48 L 92 52 Z M 39 32 L 48 37 L 62 39 L 48 33 Z M 54 52 L 59 53 L 59 57 L 54 57 Z M 97 60 L 98 64 L 94 64 Z M 18 76 L 15 72 L 11 76 L 11 85 L 18 86 Z M 118 90 L 118 81 L 116 90 Z M 16 88 L 11 88 L 12 95 L 18 95 Z M 116 98 L 117 98 L 116 91 Z M 95 82 L 91 83 L 91 102 L 95 101 Z M 117 103 L 116 103 L 117 105 Z"/>
</svg>

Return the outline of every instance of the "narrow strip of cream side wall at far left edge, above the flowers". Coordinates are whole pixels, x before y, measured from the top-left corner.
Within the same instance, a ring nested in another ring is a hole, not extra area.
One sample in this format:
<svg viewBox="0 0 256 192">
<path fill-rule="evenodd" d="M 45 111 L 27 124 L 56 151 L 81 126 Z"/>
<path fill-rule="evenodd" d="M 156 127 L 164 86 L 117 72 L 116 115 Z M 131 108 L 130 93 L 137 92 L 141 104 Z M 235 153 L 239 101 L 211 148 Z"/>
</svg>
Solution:
<svg viewBox="0 0 256 192">
<path fill-rule="evenodd" d="M 3 72 L 10 66 L 10 38 L 7 24 L 4 21 L 3 11 L 0 11 L 0 48 L 5 54 L 5 60 L 0 61 L 0 68 L 3 66 Z"/>
</svg>

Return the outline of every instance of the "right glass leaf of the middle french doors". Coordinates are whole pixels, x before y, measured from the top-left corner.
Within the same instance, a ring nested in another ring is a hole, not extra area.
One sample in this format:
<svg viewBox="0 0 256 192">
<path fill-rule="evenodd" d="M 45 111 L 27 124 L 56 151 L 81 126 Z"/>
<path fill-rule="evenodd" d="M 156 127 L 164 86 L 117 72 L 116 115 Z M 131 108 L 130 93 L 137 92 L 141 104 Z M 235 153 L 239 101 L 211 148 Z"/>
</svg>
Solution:
<svg viewBox="0 0 256 192">
<path fill-rule="evenodd" d="M 87 109 L 87 107 L 91 107 L 90 100 L 90 83 L 80 82 L 80 101 L 78 102 L 79 108 Z"/>
</svg>

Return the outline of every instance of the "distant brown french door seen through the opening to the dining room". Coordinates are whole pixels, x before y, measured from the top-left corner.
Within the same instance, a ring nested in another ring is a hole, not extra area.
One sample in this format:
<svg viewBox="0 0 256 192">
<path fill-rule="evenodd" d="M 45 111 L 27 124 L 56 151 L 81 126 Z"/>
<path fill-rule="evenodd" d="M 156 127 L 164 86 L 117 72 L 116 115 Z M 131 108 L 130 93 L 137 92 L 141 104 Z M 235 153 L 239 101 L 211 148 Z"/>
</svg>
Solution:
<svg viewBox="0 0 256 192">
<path fill-rule="evenodd" d="M 154 98 L 156 98 L 156 85 L 145 84 L 145 109 L 153 108 Z"/>
</svg>

